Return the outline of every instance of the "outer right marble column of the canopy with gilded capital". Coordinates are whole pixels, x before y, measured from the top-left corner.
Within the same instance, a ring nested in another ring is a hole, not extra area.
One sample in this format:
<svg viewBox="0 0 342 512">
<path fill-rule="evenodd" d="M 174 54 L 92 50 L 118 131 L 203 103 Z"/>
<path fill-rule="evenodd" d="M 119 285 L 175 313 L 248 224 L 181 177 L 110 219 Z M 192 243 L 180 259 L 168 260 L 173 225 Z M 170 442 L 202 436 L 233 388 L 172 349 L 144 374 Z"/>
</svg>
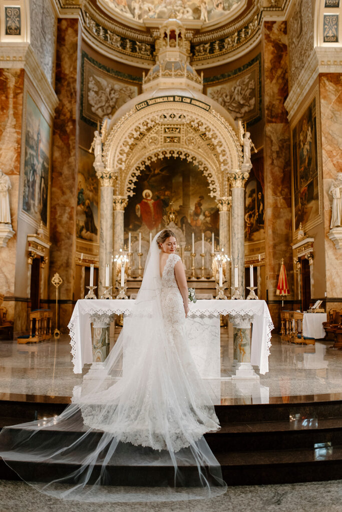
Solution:
<svg viewBox="0 0 342 512">
<path fill-rule="evenodd" d="M 238 269 L 238 287 L 245 296 L 245 183 L 248 180 L 247 170 L 236 170 L 229 173 L 232 194 L 232 261 L 231 283 L 234 285 L 235 265 Z"/>
</svg>

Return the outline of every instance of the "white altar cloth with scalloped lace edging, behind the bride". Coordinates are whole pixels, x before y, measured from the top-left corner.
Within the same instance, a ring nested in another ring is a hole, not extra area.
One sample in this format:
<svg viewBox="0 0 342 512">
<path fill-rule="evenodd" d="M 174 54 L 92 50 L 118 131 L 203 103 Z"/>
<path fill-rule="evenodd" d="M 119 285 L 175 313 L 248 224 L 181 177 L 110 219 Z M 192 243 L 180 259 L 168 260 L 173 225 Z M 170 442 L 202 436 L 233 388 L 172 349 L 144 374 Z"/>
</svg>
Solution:
<svg viewBox="0 0 342 512">
<path fill-rule="evenodd" d="M 76 302 L 69 322 L 71 353 L 74 373 L 82 373 L 85 364 L 93 362 L 90 316 L 96 314 L 129 314 L 134 300 L 87 300 Z M 198 300 L 189 304 L 188 317 L 219 317 L 230 315 L 233 323 L 249 319 L 252 322 L 251 364 L 258 366 L 260 373 L 268 372 L 268 356 L 271 346 L 273 323 L 265 301 L 215 301 Z"/>
</svg>

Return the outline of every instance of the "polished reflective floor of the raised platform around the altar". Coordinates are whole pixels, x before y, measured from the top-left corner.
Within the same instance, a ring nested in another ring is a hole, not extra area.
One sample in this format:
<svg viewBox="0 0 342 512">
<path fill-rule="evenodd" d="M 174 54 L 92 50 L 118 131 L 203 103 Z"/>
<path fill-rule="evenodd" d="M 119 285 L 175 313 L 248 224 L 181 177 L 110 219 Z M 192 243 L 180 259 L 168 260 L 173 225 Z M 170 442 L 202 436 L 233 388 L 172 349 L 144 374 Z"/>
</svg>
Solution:
<svg viewBox="0 0 342 512">
<path fill-rule="evenodd" d="M 210 381 L 216 403 L 268 403 L 274 397 L 325 395 L 325 400 L 340 399 L 342 392 L 342 352 L 330 349 L 331 342 L 316 341 L 314 346 L 282 344 L 272 336 L 269 372 L 258 381 Z M 232 340 L 222 346 L 222 376 L 232 371 Z M 89 365 L 84 369 L 87 373 Z M 0 340 L 0 399 L 3 393 L 70 397 L 83 375 L 72 369 L 69 337 L 58 342 L 18 345 Z M 306 401 L 303 396 L 297 401 Z M 322 398 L 311 398 L 314 400 Z"/>
</svg>

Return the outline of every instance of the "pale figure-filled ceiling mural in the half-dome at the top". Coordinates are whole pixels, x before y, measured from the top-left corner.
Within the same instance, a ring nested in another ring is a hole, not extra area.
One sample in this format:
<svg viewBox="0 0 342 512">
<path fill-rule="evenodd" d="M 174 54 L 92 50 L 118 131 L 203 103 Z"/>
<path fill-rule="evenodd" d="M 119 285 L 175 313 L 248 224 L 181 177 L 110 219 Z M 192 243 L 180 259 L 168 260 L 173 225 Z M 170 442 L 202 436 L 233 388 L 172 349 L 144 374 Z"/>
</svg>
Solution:
<svg viewBox="0 0 342 512">
<path fill-rule="evenodd" d="M 235 11 L 244 0 L 104 0 L 106 5 L 136 20 L 150 19 L 197 19 L 212 22 Z"/>
</svg>

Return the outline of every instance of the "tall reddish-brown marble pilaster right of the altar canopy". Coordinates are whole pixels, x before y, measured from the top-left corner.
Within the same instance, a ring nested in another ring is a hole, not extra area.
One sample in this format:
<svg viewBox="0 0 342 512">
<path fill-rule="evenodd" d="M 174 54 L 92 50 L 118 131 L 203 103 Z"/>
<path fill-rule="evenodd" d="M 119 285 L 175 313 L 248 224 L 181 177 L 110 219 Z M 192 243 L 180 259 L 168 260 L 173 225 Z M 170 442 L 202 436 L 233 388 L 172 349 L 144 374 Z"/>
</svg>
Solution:
<svg viewBox="0 0 342 512">
<path fill-rule="evenodd" d="M 274 327 L 280 322 L 281 298 L 276 295 L 280 262 L 284 258 L 290 291 L 293 288 L 290 130 L 284 101 L 288 95 L 286 22 L 265 22 L 264 60 L 264 180 L 265 266 L 268 307 Z M 288 298 L 291 298 L 289 296 Z"/>
</svg>

